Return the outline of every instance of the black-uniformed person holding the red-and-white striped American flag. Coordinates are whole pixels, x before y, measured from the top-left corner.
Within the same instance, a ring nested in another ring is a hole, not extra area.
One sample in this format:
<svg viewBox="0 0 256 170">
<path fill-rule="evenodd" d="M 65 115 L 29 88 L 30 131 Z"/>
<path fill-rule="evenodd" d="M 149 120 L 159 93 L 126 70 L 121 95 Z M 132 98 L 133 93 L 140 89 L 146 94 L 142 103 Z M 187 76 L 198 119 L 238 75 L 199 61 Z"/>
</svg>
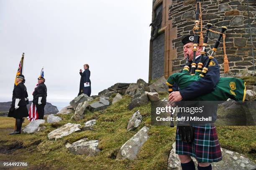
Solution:
<svg viewBox="0 0 256 170">
<path fill-rule="evenodd" d="M 44 106 L 46 105 L 47 88 L 44 77 L 38 77 L 38 86 L 33 92 L 33 104 L 36 105 L 38 119 L 44 119 Z"/>
</svg>

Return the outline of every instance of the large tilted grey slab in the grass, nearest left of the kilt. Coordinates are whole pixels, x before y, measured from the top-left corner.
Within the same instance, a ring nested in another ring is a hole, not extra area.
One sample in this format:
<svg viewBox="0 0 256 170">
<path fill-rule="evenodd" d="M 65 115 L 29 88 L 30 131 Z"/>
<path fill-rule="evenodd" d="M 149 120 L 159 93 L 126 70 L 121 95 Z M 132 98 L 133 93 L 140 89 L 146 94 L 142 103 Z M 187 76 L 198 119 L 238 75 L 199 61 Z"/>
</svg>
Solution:
<svg viewBox="0 0 256 170">
<path fill-rule="evenodd" d="M 148 140 L 148 128 L 144 126 L 120 148 L 116 159 L 134 160 L 143 144 Z"/>
</svg>

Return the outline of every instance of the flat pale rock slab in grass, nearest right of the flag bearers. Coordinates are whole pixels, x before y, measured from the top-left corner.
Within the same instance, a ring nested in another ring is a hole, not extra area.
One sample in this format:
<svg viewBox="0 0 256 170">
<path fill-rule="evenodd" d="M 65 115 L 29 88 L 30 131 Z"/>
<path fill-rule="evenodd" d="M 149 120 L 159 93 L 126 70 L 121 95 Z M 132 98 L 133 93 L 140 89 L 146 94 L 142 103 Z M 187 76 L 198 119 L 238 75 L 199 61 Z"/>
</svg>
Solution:
<svg viewBox="0 0 256 170">
<path fill-rule="evenodd" d="M 48 139 L 60 139 L 63 138 L 64 136 L 70 135 L 73 132 L 80 131 L 79 127 L 80 124 L 74 124 L 74 123 L 67 123 L 66 125 L 61 126 L 60 128 L 51 131 L 48 133 Z"/>
</svg>

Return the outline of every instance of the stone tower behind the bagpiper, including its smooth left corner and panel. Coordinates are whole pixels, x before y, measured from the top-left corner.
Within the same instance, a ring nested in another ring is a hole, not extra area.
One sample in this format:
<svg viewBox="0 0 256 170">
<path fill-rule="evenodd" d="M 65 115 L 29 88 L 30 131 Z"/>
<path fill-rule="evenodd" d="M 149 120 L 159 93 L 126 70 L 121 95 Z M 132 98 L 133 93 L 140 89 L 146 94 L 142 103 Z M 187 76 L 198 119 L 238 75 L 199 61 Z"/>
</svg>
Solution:
<svg viewBox="0 0 256 170">
<path fill-rule="evenodd" d="M 181 70 L 180 65 L 184 63 L 181 38 L 183 35 L 193 33 L 195 2 L 195 0 L 153 0 L 149 81 L 161 76 L 167 78 L 173 72 Z M 248 4 L 247 0 L 201 0 L 201 7 L 203 26 L 211 23 L 211 29 L 216 31 L 220 31 L 221 26 L 228 27 L 225 42 L 230 72 L 253 70 L 252 56 L 253 50 L 256 50 L 255 0 L 248 0 Z M 217 34 L 210 33 L 208 44 L 211 47 L 217 37 Z M 208 50 L 210 50 L 209 45 Z M 223 72 L 222 43 L 214 57 L 218 60 L 220 71 Z"/>
</svg>

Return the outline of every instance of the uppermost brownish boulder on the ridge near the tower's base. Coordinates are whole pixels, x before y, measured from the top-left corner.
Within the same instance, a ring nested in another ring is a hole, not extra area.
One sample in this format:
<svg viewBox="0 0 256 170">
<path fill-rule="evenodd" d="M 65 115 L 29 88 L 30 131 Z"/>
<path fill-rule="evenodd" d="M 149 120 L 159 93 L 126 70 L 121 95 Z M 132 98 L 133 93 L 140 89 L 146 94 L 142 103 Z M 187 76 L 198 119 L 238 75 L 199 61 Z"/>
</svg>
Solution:
<svg viewBox="0 0 256 170">
<path fill-rule="evenodd" d="M 146 83 L 142 79 L 138 79 L 136 83 L 131 83 L 127 90 L 125 91 L 125 95 L 135 95 L 139 90 L 148 91 L 150 92 L 150 89 L 148 87 L 148 83 Z"/>
</svg>

